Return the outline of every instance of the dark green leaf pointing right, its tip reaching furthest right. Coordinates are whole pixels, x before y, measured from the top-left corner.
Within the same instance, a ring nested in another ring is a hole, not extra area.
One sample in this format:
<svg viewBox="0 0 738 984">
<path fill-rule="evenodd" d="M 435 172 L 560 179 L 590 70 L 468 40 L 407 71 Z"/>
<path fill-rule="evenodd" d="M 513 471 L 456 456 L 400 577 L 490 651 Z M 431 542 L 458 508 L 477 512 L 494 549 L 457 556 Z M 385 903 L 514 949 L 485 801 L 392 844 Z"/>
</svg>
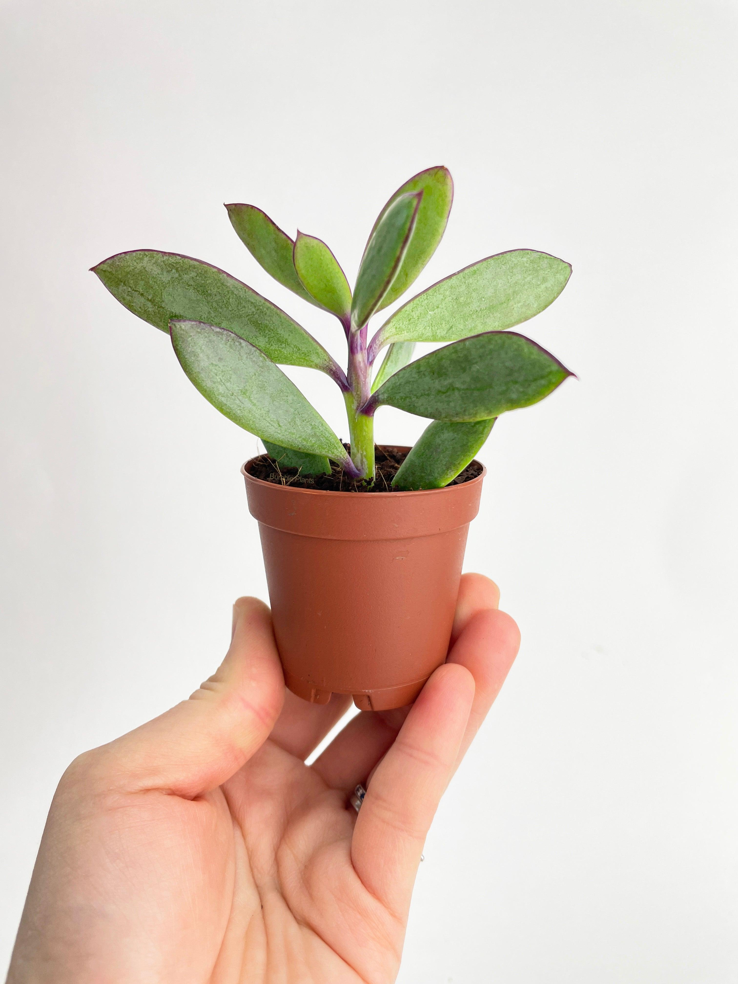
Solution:
<svg viewBox="0 0 738 984">
<path fill-rule="evenodd" d="M 435 420 L 485 420 L 543 400 L 566 366 L 516 332 L 487 332 L 438 348 L 380 387 L 367 410 L 388 404 Z"/>
</svg>

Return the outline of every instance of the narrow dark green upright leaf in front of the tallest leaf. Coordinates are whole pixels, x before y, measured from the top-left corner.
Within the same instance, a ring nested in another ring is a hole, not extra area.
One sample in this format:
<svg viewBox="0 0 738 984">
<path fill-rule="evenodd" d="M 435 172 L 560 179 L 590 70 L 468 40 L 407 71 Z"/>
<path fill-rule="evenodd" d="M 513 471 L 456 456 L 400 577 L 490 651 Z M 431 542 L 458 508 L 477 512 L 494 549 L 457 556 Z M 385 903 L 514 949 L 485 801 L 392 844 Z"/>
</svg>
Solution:
<svg viewBox="0 0 738 984">
<path fill-rule="evenodd" d="M 400 195 L 369 236 L 353 290 L 351 322 L 356 328 L 366 325 L 400 270 L 422 197 L 420 191 Z"/>
</svg>

